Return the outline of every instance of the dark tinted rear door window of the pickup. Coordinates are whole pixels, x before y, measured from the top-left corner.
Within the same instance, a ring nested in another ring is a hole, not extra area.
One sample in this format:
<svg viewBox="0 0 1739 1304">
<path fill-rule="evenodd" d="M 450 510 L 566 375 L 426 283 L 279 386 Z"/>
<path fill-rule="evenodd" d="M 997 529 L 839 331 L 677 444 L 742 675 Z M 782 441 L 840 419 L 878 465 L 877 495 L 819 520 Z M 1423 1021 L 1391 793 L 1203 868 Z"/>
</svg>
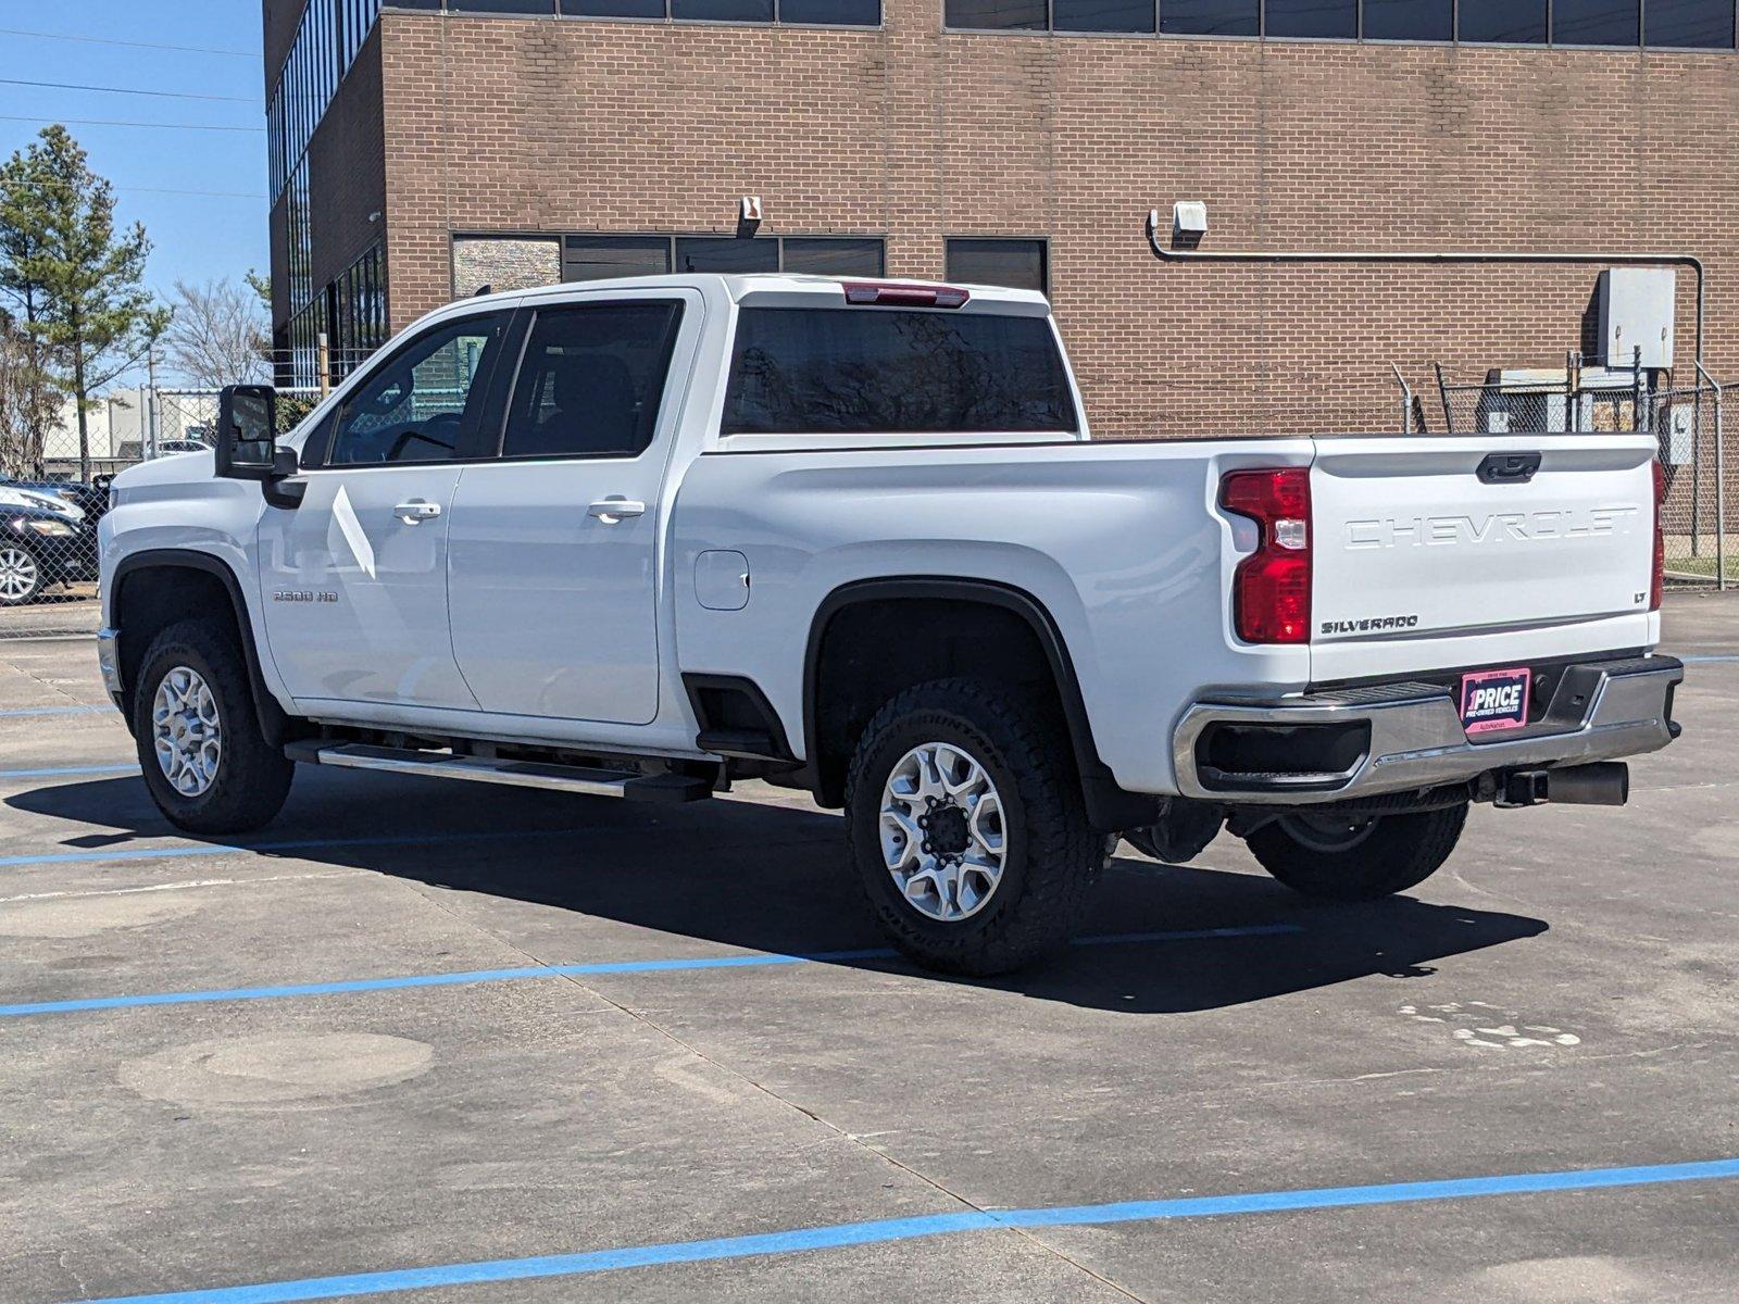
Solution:
<svg viewBox="0 0 1739 1304">
<path fill-rule="evenodd" d="M 503 457 L 635 457 L 652 443 L 682 303 L 543 308 L 508 405 Z"/>
</svg>

